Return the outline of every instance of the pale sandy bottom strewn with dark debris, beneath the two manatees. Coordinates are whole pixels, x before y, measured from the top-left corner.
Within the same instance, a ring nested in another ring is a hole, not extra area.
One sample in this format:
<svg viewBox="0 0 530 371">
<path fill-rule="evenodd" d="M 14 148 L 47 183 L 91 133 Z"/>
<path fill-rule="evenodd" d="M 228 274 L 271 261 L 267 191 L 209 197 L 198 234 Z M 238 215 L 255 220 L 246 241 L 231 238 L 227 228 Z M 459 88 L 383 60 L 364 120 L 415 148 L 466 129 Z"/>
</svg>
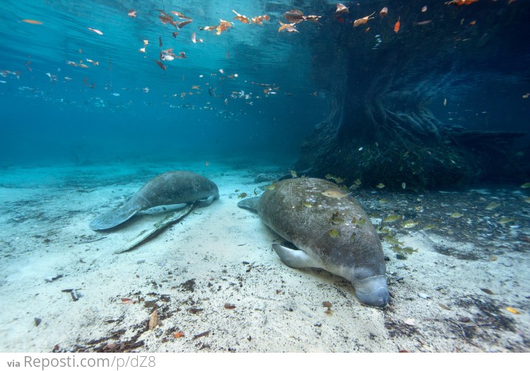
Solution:
<svg viewBox="0 0 530 371">
<path fill-rule="evenodd" d="M 114 251 L 163 213 L 88 228 L 179 169 L 216 182 L 220 199 L 129 253 Z M 287 171 L 235 160 L 1 169 L 0 351 L 530 351 L 529 192 L 355 193 L 384 227 L 391 303 L 380 309 L 341 277 L 285 266 L 271 249 L 281 238 L 237 207 L 267 184 L 258 174 Z M 403 217 L 382 221 L 391 214 Z"/>
</svg>

